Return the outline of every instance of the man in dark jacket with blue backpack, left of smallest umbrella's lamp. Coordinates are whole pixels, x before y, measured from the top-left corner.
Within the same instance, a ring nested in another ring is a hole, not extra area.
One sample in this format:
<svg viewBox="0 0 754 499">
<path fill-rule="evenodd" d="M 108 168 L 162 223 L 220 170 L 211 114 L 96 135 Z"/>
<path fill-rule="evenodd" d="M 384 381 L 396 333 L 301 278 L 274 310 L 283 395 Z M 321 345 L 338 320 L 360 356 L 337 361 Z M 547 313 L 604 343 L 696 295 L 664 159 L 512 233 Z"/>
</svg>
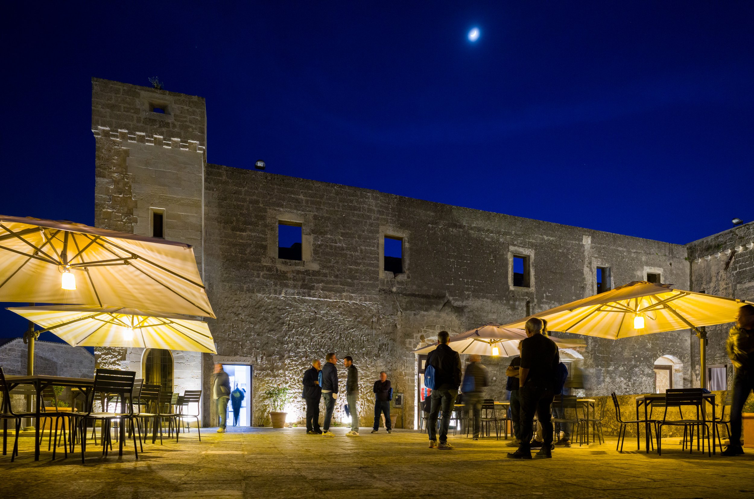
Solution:
<svg viewBox="0 0 754 499">
<path fill-rule="evenodd" d="M 454 448 L 448 443 L 448 427 L 450 413 L 453 410 L 458 387 L 461 386 L 461 356 L 448 346 L 450 334 L 448 331 L 437 333 L 437 348 L 427 356 L 426 365 L 434 367 L 434 390 L 430 395 L 431 409 L 427 421 L 429 434 L 429 448 L 439 448 L 447 451 Z M 437 414 L 443 409 L 443 420 L 440 421 L 440 443 L 437 443 Z"/>
</svg>

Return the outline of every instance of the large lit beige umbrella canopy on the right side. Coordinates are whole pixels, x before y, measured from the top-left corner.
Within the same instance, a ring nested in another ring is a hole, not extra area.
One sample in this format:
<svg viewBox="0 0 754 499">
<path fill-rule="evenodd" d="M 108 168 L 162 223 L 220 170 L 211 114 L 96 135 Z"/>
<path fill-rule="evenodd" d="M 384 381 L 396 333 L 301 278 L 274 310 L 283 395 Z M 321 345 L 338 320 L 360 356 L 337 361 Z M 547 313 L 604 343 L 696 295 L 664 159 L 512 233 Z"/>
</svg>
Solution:
<svg viewBox="0 0 754 499">
<path fill-rule="evenodd" d="M 547 329 L 609 339 L 734 322 L 744 300 L 635 281 L 530 317 L 547 319 Z M 523 328 L 525 317 L 504 325 Z"/>
</svg>

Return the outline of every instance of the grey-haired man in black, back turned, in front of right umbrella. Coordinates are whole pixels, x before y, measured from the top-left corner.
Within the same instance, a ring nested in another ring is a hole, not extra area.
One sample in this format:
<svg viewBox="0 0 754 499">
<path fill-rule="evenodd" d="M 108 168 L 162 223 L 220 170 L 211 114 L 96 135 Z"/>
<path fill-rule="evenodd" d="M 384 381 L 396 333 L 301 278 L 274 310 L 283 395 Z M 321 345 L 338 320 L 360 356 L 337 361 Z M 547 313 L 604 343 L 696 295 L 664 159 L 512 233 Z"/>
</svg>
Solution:
<svg viewBox="0 0 754 499">
<path fill-rule="evenodd" d="M 550 404 L 553 402 L 553 385 L 560 356 L 553 340 L 542 334 L 543 324 L 532 317 L 526 321 L 526 339 L 521 341 L 521 368 L 519 369 L 519 398 L 521 401 L 521 444 L 513 459 L 531 459 L 532 423 L 534 414 L 542 425 L 544 444 L 537 457 L 553 457 L 553 424 L 550 421 Z"/>
</svg>

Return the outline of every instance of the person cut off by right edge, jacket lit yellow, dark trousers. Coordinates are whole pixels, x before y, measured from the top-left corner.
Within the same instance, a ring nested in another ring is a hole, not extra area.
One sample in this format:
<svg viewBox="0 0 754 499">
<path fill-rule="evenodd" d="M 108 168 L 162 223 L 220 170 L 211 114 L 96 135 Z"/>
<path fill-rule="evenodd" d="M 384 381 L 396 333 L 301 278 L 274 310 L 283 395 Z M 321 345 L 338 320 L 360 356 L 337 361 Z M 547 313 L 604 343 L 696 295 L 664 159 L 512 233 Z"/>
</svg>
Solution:
<svg viewBox="0 0 754 499">
<path fill-rule="evenodd" d="M 728 357 L 736 368 L 733 377 L 733 402 L 731 403 L 731 436 L 722 456 L 743 455 L 741 448 L 741 411 L 749 393 L 754 389 L 754 306 L 738 309 L 736 325 L 728 332 L 725 343 Z"/>
</svg>

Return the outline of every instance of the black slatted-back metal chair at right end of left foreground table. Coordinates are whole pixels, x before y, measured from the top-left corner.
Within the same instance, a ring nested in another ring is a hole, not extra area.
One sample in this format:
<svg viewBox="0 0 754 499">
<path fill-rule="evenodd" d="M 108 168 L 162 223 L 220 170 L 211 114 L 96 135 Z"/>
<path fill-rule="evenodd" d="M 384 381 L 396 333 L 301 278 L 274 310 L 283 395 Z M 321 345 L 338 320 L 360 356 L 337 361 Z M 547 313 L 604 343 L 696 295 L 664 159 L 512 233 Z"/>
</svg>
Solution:
<svg viewBox="0 0 754 499">
<path fill-rule="evenodd" d="M 86 422 L 87 420 L 93 420 L 96 424 L 100 421 L 102 431 L 100 433 L 100 441 L 102 443 L 103 456 L 108 455 L 108 446 L 112 448 L 112 439 L 110 436 L 110 427 L 113 421 L 119 421 L 121 424 L 130 423 L 131 436 L 133 438 L 133 454 L 136 455 L 136 459 L 139 459 L 138 448 L 136 447 L 136 430 L 133 427 L 133 401 L 131 400 L 131 393 L 133 392 L 133 381 L 136 379 L 136 373 L 134 371 L 118 371 L 117 369 L 97 369 L 94 372 L 94 387 L 92 390 L 92 396 L 88 401 L 87 411 L 78 414 L 72 413 L 78 420 L 81 431 L 81 462 L 84 463 L 84 452 L 87 447 L 86 439 Z M 103 407 L 103 411 L 94 411 L 94 399 L 96 393 L 103 393 L 106 396 L 116 395 L 119 397 L 121 403 L 121 411 L 109 412 L 107 411 L 107 405 Z M 125 428 L 125 427 L 124 427 Z M 119 439 L 118 454 L 123 454 L 123 440 Z"/>
</svg>

